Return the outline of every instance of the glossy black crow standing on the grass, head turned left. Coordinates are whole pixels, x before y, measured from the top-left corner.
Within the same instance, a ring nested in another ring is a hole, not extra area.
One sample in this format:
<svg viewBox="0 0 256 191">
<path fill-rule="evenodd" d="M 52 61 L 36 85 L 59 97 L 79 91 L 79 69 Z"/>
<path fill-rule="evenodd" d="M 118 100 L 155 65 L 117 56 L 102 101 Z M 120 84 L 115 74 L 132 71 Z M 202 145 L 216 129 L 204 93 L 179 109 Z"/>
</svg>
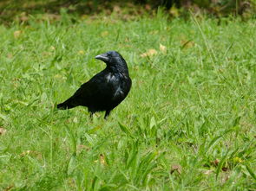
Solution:
<svg viewBox="0 0 256 191">
<path fill-rule="evenodd" d="M 110 111 L 126 98 L 132 80 L 121 54 L 108 51 L 95 56 L 95 59 L 104 61 L 107 67 L 84 83 L 68 100 L 57 105 L 58 109 L 65 110 L 82 105 L 88 107 L 90 118 L 96 111 L 106 111 L 104 118 L 107 118 Z"/>
</svg>

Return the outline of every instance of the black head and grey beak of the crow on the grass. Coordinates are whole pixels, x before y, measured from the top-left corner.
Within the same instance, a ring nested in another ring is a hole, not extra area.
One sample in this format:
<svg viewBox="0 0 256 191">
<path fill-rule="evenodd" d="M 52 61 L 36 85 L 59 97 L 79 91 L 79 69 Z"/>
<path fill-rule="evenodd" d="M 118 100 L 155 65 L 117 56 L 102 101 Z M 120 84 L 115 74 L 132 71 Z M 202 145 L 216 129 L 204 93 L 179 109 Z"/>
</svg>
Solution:
<svg viewBox="0 0 256 191">
<path fill-rule="evenodd" d="M 128 69 L 126 61 L 116 51 L 108 51 L 107 53 L 96 55 L 95 59 L 104 61 L 107 67 Z"/>
</svg>

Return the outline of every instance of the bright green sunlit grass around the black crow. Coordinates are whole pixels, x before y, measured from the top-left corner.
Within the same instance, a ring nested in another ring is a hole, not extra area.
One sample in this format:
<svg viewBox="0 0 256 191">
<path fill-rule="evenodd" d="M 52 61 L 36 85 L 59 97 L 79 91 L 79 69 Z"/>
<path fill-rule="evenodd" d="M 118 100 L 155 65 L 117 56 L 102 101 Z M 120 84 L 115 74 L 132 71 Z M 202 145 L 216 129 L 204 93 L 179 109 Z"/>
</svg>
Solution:
<svg viewBox="0 0 256 191">
<path fill-rule="evenodd" d="M 1 189 L 255 190 L 255 21 L 72 21 L 0 27 Z M 107 121 L 56 111 L 108 50 L 128 98 Z"/>
</svg>

